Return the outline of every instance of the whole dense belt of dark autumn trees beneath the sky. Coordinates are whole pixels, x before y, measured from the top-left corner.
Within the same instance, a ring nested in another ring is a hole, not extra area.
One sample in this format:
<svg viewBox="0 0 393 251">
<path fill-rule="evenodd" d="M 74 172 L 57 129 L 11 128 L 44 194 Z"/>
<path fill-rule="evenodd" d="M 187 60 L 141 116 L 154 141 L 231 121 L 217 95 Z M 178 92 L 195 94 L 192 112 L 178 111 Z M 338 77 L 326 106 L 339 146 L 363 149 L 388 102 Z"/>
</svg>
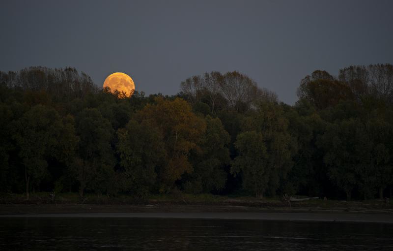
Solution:
<svg viewBox="0 0 393 251">
<path fill-rule="evenodd" d="M 0 71 L 0 88 L 1 192 L 392 196 L 392 64 L 316 70 L 294 105 L 237 71 L 173 96 L 112 94 L 74 68 Z"/>
</svg>

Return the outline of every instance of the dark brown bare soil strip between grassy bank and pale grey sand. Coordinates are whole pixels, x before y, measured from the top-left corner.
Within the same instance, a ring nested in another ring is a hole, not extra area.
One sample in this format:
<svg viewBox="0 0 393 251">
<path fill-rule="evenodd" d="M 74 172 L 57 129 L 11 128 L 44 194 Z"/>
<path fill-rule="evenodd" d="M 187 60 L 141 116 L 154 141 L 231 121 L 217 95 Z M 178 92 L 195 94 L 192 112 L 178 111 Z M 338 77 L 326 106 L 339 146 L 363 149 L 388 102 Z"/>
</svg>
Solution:
<svg viewBox="0 0 393 251">
<path fill-rule="evenodd" d="M 36 215 L 36 214 L 79 214 L 79 213 L 345 213 L 391 215 L 393 210 L 340 207 L 279 207 L 279 206 L 239 206 L 191 204 L 179 205 L 156 203 L 143 205 L 97 205 L 97 204 L 0 204 L 0 215 Z"/>
</svg>

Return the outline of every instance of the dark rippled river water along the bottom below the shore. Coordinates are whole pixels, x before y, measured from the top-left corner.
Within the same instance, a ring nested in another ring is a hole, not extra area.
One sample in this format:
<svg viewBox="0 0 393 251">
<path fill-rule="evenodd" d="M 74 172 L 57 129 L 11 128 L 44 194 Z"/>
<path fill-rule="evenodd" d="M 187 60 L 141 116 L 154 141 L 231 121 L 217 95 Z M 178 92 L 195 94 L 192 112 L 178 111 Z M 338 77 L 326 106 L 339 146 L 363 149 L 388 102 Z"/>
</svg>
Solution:
<svg viewBox="0 0 393 251">
<path fill-rule="evenodd" d="M 393 224 L 2 218 L 0 250 L 393 250 Z"/>
</svg>

